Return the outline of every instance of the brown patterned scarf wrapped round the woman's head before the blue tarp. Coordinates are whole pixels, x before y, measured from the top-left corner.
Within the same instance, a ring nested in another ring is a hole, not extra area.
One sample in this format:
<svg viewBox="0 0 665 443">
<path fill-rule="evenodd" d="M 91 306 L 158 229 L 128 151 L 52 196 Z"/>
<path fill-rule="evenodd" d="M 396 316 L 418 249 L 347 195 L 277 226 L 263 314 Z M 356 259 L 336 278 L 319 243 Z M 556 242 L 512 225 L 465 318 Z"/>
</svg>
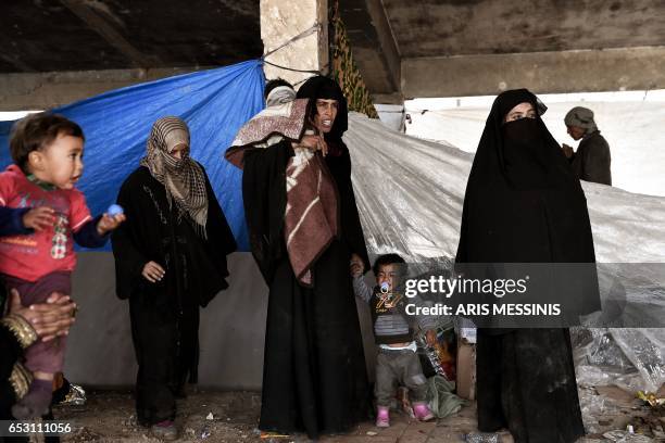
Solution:
<svg viewBox="0 0 665 443">
<path fill-rule="evenodd" d="M 170 153 L 179 144 L 187 145 L 183 159 Z M 141 165 L 150 169 L 155 180 L 166 188 L 168 204 L 175 201 L 181 214 L 187 214 L 200 237 L 205 238 L 208 192 L 205 174 L 189 156 L 189 128 L 178 117 L 162 117 L 152 125 L 146 156 Z"/>
</svg>

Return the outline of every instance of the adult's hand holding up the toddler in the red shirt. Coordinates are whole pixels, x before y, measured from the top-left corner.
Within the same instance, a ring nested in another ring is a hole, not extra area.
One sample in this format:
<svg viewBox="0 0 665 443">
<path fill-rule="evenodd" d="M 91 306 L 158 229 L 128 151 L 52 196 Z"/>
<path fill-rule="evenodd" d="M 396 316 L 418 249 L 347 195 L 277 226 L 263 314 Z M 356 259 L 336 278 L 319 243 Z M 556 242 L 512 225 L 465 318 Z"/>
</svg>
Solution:
<svg viewBox="0 0 665 443">
<path fill-rule="evenodd" d="M 21 304 L 21 295 L 15 289 L 10 291 L 9 306 L 9 314 L 25 318 L 45 342 L 68 334 L 76 311 L 76 303 L 72 302 L 68 295 L 60 292 L 53 292 L 46 303 L 24 307 Z"/>
</svg>

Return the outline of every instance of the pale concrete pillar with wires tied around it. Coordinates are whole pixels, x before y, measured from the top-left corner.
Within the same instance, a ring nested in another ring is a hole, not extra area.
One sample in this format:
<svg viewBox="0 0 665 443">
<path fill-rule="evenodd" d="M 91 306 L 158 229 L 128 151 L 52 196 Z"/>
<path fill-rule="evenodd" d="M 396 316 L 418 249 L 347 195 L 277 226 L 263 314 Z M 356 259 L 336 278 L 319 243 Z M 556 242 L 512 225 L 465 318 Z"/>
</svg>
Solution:
<svg viewBox="0 0 665 443">
<path fill-rule="evenodd" d="M 328 73 L 328 0 L 261 0 L 261 39 L 264 54 L 291 38 L 317 28 L 266 56 L 266 61 L 296 69 Z M 296 85 L 312 74 L 264 65 L 267 79 L 281 77 Z"/>
</svg>

